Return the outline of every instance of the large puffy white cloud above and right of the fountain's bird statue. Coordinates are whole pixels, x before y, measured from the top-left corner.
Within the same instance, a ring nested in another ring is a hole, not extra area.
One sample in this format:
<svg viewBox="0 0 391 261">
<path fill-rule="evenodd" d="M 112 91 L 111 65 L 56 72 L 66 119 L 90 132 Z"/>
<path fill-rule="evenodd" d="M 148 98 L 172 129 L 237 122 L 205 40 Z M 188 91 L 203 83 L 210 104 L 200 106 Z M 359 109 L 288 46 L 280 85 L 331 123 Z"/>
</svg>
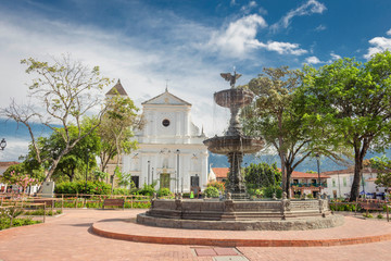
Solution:
<svg viewBox="0 0 391 261">
<path fill-rule="evenodd" d="M 232 58 L 247 58 L 247 54 L 256 49 L 266 49 L 279 54 L 301 55 L 307 51 L 300 49 L 298 44 L 267 41 L 262 42 L 256 39 L 258 27 L 264 28 L 267 24 L 265 20 L 252 14 L 231 22 L 227 29 L 213 34 L 207 48 L 219 51 L 224 55 Z"/>
</svg>

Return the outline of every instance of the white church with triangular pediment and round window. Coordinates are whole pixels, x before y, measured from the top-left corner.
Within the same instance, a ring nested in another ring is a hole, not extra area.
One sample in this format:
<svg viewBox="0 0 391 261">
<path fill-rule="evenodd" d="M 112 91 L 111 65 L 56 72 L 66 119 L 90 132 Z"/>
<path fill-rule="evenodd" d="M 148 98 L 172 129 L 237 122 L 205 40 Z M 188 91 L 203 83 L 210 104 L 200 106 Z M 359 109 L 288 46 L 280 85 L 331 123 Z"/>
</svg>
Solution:
<svg viewBox="0 0 391 261">
<path fill-rule="evenodd" d="M 126 95 L 119 80 L 113 88 Z M 155 189 L 173 192 L 206 188 L 206 137 L 191 122 L 191 104 L 167 88 L 141 104 L 144 126 L 135 134 L 139 149 L 123 154 L 123 172 L 131 174 L 137 187 L 155 183 Z"/>
</svg>

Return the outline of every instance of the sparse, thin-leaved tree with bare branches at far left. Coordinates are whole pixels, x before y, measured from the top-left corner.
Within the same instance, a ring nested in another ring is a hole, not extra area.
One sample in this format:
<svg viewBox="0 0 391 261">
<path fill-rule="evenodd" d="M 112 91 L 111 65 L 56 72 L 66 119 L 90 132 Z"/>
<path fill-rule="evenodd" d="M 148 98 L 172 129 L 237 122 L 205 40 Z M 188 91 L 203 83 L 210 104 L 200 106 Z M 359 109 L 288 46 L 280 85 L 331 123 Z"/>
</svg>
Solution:
<svg viewBox="0 0 391 261">
<path fill-rule="evenodd" d="M 80 62 L 72 61 L 70 55 L 63 55 L 61 60 L 53 59 L 52 64 L 33 58 L 22 60 L 22 64 L 27 65 L 27 74 L 37 75 L 29 86 L 29 95 L 34 102 L 40 103 L 45 112 L 41 113 L 41 109 L 33 105 L 17 105 L 13 101 L 9 108 L 1 110 L 1 114 L 28 128 L 37 162 L 39 164 L 49 162 L 50 166 L 45 177 L 45 181 L 49 181 L 61 159 L 100 124 L 98 121 L 89 130 L 81 129 L 83 116 L 92 108 L 102 104 L 99 92 L 110 84 L 110 80 L 100 76 L 98 66 L 90 70 Z M 46 158 L 41 154 L 38 140 L 31 129 L 34 121 L 45 124 L 63 139 L 65 146 L 55 157 Z M 75 138 L 71 137 L 70 133 L 72 124 L 77 128 Z"/>
</svg>

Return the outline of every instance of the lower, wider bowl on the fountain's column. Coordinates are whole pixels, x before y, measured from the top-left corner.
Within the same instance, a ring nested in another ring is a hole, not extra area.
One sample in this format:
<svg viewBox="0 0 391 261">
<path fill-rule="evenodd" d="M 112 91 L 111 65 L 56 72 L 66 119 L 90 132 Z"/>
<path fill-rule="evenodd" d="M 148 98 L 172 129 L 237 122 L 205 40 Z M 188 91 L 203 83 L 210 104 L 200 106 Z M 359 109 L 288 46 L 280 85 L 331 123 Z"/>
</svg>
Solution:
<svg viewBox="0 0 391 261">
<path fill-rule="evenodd" d="M 216 154 L 229 152 L 255 153 L 264 147 L 263 139 L 248 136 L 215 136 L 203 141 L 207 150 Z"/>
</svg>

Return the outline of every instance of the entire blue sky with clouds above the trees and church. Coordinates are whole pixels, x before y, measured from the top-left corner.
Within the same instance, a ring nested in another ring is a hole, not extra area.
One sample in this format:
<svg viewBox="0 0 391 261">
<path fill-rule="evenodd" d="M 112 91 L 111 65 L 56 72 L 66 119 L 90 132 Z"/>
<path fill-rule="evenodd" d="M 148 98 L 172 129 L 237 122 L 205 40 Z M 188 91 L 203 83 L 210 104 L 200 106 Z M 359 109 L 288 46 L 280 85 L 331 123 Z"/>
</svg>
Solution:
<svg viewBox="0 0 391 261">
<path fill-rule="evenodd" d="M 365 61 L 391 48 L 390 13 L 389 0 L 0 0 L 1 107 L 28 100 L 22 59 L 71 53 L 121 78 L 137 104 L 167 84 L 212 136 L 228 119 L 212 99 L 229 87 L 220 72 L 236 66 L 245 84 L 265 66 Z"/>
</svg>

